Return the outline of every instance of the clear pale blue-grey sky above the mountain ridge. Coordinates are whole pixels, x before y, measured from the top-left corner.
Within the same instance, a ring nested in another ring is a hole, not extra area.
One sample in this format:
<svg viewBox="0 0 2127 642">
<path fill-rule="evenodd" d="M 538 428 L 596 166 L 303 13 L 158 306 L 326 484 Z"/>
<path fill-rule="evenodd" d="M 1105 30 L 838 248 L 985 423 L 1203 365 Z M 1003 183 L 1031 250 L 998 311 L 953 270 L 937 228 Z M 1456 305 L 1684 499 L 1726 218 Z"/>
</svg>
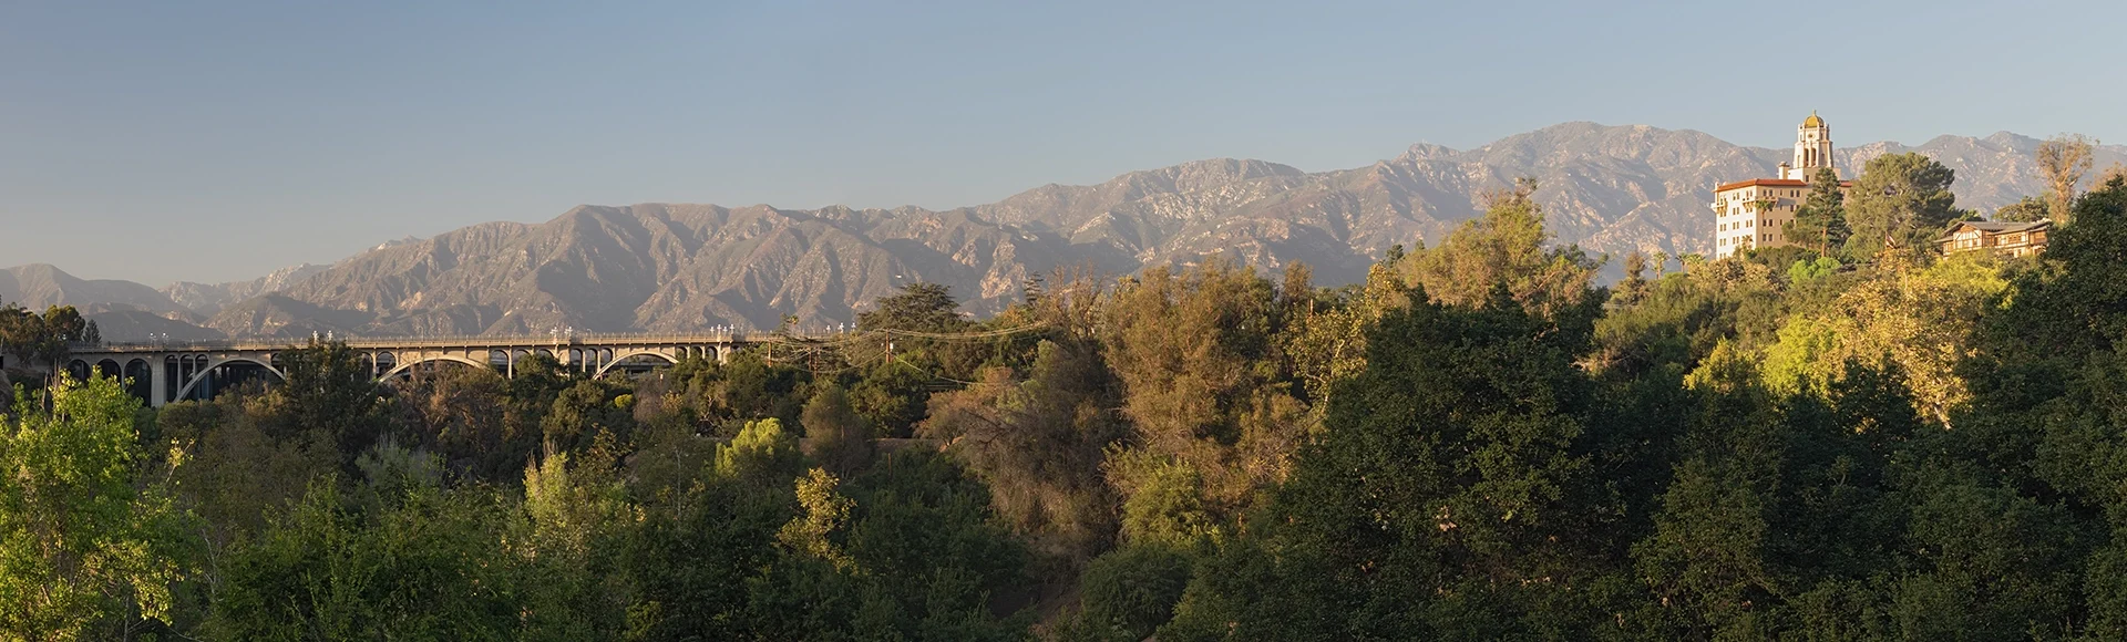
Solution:
<svg viewBox="0 0 2127 642">
<path fill-rule="evenodd" d="M 576 204 L 951 208 L 1561 123 L 2127 140 L 2127 2 L 0 0 L 0 266 L 240 281 Z"/>
</svg>

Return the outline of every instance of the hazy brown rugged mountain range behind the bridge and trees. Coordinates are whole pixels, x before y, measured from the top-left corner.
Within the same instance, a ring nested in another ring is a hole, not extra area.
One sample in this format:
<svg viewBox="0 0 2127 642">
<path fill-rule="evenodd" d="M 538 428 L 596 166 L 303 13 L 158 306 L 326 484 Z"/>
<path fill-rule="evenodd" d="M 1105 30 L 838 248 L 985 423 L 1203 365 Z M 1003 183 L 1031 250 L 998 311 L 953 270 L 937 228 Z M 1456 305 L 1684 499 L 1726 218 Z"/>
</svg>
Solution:
<svg viewBox="0 0 2127 642">
<path fill-rule="evenodd" d="M 2008 132 L 1870 142 L 1836 162 L 1850 176 L 1870 157 L 1921 151 L 1957 170 L 1959 206 L 1991 213 L 2044 191 L 2038 142 Z M 1204 159 L 953 210 L 579 206 L 547 223 L 481 223 L 332 266 L 160 291 L 19 266 L 0 272 L 0 298 L 83 306 L 108 340 L 685 332 L 776 327 L 783 315 L 840 323 L 915 281 L 951 285 L 966 310 L 985 315 L 1051 270 L 1129 274 L 1208 253 L 1272 270 L 1306 261 L 1319 285 L 1351 283 L 1391 244 L 1438 242 L 1517 176 L 1540 181 L 1559 242 L 1708 253 L 1712 187 L 1770 176 L 1787 157 L 1691 130 L 1561 123 L 1466 151 L 1412 145 L 1366 168 Z M 2097 168 L 2114 162 L 2127 162 L 2127 147 L 2097 151 Z"/>
</svg>

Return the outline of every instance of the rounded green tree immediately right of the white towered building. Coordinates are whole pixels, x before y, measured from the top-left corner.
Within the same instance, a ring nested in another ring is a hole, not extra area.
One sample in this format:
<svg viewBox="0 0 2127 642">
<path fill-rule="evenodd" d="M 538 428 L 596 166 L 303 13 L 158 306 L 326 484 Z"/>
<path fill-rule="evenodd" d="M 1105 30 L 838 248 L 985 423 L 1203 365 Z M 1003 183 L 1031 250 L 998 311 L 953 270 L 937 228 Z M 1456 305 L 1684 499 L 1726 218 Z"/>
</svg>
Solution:
<svg viewBox="0 0 2127 642">
<path fill-rule="evenodd" d="M 1887 247 L 1931 247 L 1950 221 L 1965 215 L 1950 193 L 1955 181 L 1957 172 L 1921 153 L 1870 159 L 1846 200 L 1846 223 L 1853 227 L 1848 253 L 1872 257 Z"/>
</svg>

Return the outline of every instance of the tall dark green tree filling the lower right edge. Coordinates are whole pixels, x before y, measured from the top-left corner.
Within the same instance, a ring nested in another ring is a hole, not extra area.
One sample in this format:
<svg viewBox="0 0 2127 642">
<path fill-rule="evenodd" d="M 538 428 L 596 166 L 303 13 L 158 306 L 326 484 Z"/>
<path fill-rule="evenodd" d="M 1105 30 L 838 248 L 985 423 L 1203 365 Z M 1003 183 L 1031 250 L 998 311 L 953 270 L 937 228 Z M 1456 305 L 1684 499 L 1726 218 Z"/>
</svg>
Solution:
<svg viewBox="0 0 2127 642">
<path fill-rule="evenodd" d="M 1925 461 L 1938 474 L 1916 504 L 1940 553 L 1902 593 L 1916 625 L 2059 631 L 2087 612 L 2091 638 L 2127 631 L 2114 572 L 2127 531 L 2127 179 L 2076 198 L 2074 221 L 2048 266 L 2014 274 L 1961 366 L 1972 410 L 1940 449 L 1970 463 Z"/>
</svg>

